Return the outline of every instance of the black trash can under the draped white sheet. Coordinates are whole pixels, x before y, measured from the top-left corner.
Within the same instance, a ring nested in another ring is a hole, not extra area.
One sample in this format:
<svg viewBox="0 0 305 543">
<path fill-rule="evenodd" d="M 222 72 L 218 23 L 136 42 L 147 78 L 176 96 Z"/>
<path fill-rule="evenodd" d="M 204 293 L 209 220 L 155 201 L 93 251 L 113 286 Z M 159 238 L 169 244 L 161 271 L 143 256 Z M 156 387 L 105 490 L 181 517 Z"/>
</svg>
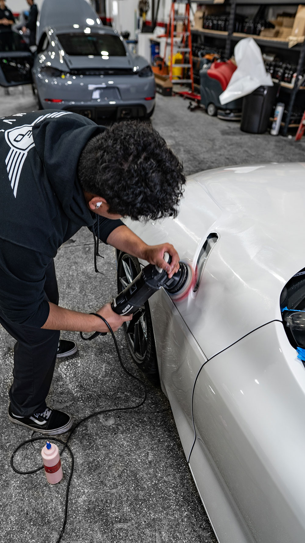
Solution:
<svg viewBox="0 0 305 543">
<path fill-rule="evenodd" d="M 278 83 L 274 83 L 273 87 L 261 86 L 244 97 L 241 120 L 243 132 L 263 134 L 267 130 L 278 87 Z"/>
</svg>

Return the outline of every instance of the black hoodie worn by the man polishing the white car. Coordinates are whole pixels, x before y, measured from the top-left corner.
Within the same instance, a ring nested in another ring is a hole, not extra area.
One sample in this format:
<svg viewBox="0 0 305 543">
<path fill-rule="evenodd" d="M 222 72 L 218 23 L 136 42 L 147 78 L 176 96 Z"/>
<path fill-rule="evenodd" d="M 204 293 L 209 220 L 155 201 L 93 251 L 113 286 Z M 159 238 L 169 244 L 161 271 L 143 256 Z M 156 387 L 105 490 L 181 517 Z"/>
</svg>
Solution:
<svg viewBox="0 0 305 543">
<path fill-rule="evenodd" d="M 68 111 L 0 118 L 0 311 L 12 322 L 43 326 L 51 258 L 82 226 L 96 231 L 77 162 L 87 141 L 104 130 Z M 100 217 L 100 239 L 106 243 L 122 224 Z"/>
</svg>

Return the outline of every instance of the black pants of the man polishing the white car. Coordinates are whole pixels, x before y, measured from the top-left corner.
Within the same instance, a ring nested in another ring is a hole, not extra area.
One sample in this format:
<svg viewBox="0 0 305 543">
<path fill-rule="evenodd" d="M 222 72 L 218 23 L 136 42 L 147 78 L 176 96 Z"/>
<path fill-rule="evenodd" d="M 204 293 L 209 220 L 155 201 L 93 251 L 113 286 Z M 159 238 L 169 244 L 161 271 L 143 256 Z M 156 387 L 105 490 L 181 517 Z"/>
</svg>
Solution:
<svg viewBox="0 0 305 543">
<path fill-rule="evenodd" d="M 54 261 L 46 270 L 46 300 L 58 304 Z M 43 413 L 53 377 L 60 332 L 12 323 L 0 312 L 0 323 L 17 340 L 14 347 L 14 381 L 9 391 L 15 415 Z"/>
</svg>

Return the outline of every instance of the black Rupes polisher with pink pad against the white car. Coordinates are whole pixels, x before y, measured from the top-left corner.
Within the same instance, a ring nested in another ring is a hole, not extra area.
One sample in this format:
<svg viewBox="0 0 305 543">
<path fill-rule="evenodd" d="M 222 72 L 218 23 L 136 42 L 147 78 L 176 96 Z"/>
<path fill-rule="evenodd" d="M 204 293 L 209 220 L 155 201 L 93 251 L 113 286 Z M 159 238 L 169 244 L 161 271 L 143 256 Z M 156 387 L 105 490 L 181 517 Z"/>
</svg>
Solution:
<svg viewBox="0 0 305 543">
<path fill-rule="evenodd" d="M 171 263 L 168 252 L 164 253 L 164 260 Z M 185 262 L 180 261 L 179 266 L 179 270 L 169 279 L 165 270 L 148 264 L 133 282 L 114 298 L 111 303 L 112 310 L 119 315 L 135 313 L 161 287 L 165 288 L 174 301 L 182 300 L 193 286 L 194 273 Z"/>
</svg>

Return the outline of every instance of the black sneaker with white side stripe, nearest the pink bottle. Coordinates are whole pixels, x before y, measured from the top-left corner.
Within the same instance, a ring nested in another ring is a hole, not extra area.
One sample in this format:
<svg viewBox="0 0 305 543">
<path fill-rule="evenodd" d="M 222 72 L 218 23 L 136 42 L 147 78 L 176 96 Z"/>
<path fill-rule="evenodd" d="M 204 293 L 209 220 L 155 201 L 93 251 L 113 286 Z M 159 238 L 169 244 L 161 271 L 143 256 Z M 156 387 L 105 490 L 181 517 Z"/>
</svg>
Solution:
<svg viewBox="0 0 305 543">
<path fill-rule="evenodd" d="M 27 426 L 30 430 L 40 432 L 44 435 L 57 435 L 63 434 L 70 430 L 73 420 L 67 413 L 57 411 L 56 409 L 47 409 L 43 413 L 33 413 L 29 416 L 14 415 L 11 411 L 11 405 L 9 405 L 9 420 Z"/>
</svg>

